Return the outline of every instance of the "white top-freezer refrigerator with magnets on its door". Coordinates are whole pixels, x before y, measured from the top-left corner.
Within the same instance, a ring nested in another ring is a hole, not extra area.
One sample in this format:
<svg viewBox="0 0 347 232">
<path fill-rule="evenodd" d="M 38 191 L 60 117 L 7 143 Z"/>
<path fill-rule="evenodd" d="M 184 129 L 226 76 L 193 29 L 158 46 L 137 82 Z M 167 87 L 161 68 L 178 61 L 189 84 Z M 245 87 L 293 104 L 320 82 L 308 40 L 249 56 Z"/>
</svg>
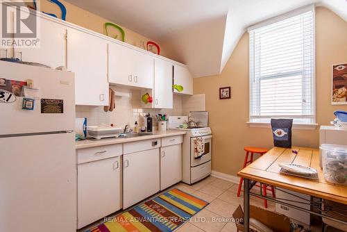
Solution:
<svg viewBox="0 0 347 232">
<path fill-rule="evenodd" d="M 74 118 L 73 73 L 0 61 L 0 231 L 76 231 Z"/>
</svg>

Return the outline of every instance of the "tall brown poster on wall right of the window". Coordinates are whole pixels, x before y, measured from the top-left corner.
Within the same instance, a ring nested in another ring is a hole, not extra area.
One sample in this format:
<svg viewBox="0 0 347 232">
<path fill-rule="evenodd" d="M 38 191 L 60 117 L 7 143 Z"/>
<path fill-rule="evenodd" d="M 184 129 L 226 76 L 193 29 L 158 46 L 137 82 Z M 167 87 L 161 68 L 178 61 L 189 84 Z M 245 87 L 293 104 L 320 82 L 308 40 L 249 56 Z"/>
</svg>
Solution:
<svg viewBox="0 0 347 232">
<path fill-rule="evenodd" d="M 347 104 L 347 63 L 332 65 L 332 105 Z"/>
</svg>

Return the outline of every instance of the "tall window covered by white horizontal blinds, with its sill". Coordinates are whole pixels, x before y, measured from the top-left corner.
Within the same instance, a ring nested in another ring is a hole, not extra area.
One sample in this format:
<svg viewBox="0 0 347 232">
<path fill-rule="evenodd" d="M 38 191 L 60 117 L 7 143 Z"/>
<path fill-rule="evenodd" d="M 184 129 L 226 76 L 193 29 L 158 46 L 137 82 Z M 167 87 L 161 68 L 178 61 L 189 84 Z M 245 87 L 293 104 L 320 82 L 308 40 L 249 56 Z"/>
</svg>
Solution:
<svg viewBox="0 0 347 232">
<path fill-rule="evenodd" d="M 314 8 L 248 33 L 250 122 L 314 124 Z"/>
</svg>

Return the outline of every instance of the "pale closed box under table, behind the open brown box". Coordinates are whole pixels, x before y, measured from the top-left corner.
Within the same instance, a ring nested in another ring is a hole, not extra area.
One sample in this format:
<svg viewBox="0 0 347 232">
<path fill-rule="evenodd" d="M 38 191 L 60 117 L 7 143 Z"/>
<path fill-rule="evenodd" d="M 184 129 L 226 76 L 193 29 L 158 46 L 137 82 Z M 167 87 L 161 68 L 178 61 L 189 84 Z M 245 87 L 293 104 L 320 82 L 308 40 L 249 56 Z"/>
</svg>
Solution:
<svg viewBox="0 0 347 232">
<path fill-rule="evenodd" d="M 281 190 L 285 192 L 282 192 Z M 289 192 L 290 194 L 288 194 L 287 192 Z M 293 195 L 298 197 L 295 197 Z M 278 198 L 280 201 L 284 201 L 287 204 L 305 208 L 306 210 L 310 210 L 310 207 L 311 207 L 310 204 L 307 204 L 311 199 L 310 195 L 302 194 L 299 192 L 293 192 L 291 190 L 277 188 L 276 198 Z M 284 199 L 288 199 L 289 201 L 285 201 Z M 294 201 L 299 201 L 299 202 L 294 202 Z M 286 215 L 287 217 L 290 217 L 298 222 L 302 222 L 306 226 L 310 226 L 310 213 L 297 210 L 295 208 L 291 208 L 288 206 L 284 206 L 278 203 L 276 203 L 276 212 L 281 213 L 282 215 Z"/>
</svg>

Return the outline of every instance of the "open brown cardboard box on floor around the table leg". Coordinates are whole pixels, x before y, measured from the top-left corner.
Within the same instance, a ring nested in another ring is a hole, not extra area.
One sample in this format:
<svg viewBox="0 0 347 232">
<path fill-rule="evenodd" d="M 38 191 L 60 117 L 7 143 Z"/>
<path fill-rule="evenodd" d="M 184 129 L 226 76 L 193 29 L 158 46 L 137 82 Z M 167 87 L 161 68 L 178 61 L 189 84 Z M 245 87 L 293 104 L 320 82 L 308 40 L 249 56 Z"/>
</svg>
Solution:
<svg viewBox="0 0 347 232">
<path fill-rule="evenodd" d="M 249 213 L 250 218 L 253 217 L 254 219 L 257 219 L 273 231 L 288 232 L 290 229 L 289 218 L 285 215 L 280 215 L 279 213 L 264 210 L 256 206 L 250 206 Z M 235 212 L 232 213 L 232 217 L 235 219 L 237 231 L 244 231 L 244 211 L 241 206 L 237 207 Z M 252 229 L 250 229 L 250 231 L 256 232 Z"/>
</svg>

